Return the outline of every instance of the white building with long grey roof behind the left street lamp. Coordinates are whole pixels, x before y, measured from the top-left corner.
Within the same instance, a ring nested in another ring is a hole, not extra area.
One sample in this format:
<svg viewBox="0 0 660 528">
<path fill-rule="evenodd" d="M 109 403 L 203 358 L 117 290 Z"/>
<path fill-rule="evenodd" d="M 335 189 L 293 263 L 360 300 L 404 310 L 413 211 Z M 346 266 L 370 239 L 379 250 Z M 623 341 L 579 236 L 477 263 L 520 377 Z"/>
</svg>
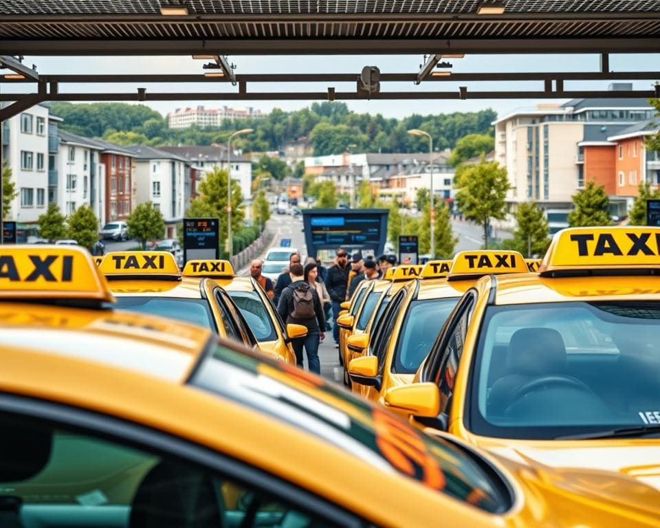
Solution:
<svg viewBox="0 0 660 528">
<path fill-rule="evenodd" d="M 190 164 L 201 169 L 203 175 L 214 168 L 227 167 L 227 147 L 224 145 L 163 146 L 160 150 L 187 159 Z M 243 199 L 250 201 L 252 199 L 252 162 L 234 152 L 232 152 L 229 162 L 232 179 L 239 182 Z"/>
</svg>

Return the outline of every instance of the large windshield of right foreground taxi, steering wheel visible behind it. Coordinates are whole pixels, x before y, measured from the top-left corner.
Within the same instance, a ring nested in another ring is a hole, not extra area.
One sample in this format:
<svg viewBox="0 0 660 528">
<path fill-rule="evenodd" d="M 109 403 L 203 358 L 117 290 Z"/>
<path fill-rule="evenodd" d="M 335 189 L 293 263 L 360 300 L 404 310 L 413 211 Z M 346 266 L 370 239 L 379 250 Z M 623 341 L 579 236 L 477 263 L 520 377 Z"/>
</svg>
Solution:
<svg viewBox="0 0 660 528">
<path fill-rule="evenodd" d="M 556 439 L 657 423 L 660 302 L 489 307 L 472 382 L 473 432 Z"/>
</svg>

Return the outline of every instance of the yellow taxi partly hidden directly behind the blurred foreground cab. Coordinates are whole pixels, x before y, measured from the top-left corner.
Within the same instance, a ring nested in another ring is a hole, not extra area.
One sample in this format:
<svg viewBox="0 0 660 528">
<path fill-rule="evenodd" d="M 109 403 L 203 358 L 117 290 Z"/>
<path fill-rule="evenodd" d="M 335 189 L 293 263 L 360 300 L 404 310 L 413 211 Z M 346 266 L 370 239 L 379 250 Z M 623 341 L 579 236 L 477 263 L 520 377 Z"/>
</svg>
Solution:
<svg viewBox="0 0 660 528">
<path fill-rule="evenodd" d="M 257 346 L 254 333 L 227 292 L 211 278 L 181 276 L 169 252 L 110 252 L 98 269 L 107 278 L 116 309 L 192 322 L 223 338 Z"/>
</svg>

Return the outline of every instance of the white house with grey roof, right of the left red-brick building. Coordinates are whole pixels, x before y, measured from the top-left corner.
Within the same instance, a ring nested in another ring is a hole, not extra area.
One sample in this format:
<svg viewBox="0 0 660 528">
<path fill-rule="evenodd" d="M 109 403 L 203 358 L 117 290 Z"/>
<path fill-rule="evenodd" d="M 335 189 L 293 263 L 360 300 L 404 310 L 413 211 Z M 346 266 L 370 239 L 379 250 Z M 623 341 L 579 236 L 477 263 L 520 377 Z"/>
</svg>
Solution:
<svg viewBox="0 0 660 528">
<path fill-rule="evenodd" d="M 151 146 L 126 148 L 135 154 L 133 181 L 136 205 L 151 201 L 165 219 L 165 238 L 174 238 L 177 236 L 177 223 L 183 221 L 186 201 L 190 197 L 190 171 L 186 170 L 188 160 Z"/>
</svg>

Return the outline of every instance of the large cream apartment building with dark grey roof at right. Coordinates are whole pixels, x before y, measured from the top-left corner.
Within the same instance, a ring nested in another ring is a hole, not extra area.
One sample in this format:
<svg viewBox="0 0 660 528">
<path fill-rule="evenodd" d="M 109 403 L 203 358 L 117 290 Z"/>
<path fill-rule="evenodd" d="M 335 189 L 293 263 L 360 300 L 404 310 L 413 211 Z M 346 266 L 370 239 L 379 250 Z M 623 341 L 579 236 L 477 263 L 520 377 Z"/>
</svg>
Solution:
<svg viewBox="0 0 660 528">
<path fill-rule="evenodd" d="M 511 184 L 505 226 L 514 227 L 518 203 L 533 200 L 544 209 L 551 232 L 566 227 L 571 197 L 584 187 L 585 149 L 594 156 L 592 170 L 604 170 L 608 151 L 599 148 L 609 146 L 608 137 L 653 113 L 644 99 L 575 99 L 520 109 L 496 120 L 495 160 L 507 168 Z"/>
</svg>

